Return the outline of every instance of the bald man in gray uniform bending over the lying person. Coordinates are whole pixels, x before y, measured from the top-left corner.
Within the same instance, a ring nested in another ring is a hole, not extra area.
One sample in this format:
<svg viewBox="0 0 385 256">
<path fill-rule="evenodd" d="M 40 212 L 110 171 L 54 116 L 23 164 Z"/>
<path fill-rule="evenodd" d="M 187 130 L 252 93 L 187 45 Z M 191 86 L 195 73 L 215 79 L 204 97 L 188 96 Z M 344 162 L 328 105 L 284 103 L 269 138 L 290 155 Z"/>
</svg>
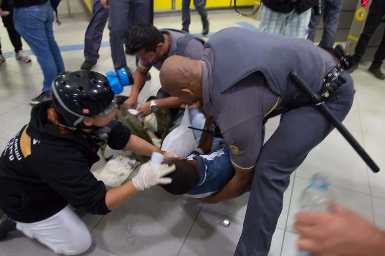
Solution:
<svg viewBox="0 0 385 256">
<path fill-rule="evenodd" d="M 216 203 L 250 190 L 235 255 L 267 256 L 290 174 L 332 130 L 327 119 L 290 82 L 297 72 L 316 92 L 336 65 L 333 56 L 308 40 L 227 28 L 204 45 L 202 61 L 168 58 L 160 71 L 163 88 L 181 101 L 200 101 L 213 115 L 230 147 L 235 176 L 205 202 Z M 354 97 L 347 82 L 324 104 L 342 121 Z M 263 145 L 263 124 L 282 114 Z M 263 145 L 263 146 L 262 146 Z"/>
</svg>

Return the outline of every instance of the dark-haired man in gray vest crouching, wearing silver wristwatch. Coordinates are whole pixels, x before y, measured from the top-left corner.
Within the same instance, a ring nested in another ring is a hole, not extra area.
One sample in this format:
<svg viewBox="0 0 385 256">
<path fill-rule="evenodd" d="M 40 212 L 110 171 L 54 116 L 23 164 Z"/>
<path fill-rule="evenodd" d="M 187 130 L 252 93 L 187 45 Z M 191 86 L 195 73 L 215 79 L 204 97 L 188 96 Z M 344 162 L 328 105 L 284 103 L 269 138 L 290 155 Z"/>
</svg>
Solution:
<svg viewBox="0 0 385 256">
<path fill-rule="evenodd" d="M 153 66 L 160 69 L 165 60 L 173 55 L 200 60 L 203 53 L 203 41 L 200 39 L 193 38 L 183 31 L 158 30 L 151 24 L 136 25 L 131 30 L 128 46 L 139 58 L 139 64 L 135 70 L 131 95 L 125 102 L 127 108 L 136 108 L 139 93 L 146 82 L 146 74 Z M 139 115 L 147 116 L 158 109 L 172 109 L 175 119 L 182 102 L 177 97 L 170 97 L 170 94 L 162 89 L 157 98 L 142 104 L 138 108 Z"/>
</svg>

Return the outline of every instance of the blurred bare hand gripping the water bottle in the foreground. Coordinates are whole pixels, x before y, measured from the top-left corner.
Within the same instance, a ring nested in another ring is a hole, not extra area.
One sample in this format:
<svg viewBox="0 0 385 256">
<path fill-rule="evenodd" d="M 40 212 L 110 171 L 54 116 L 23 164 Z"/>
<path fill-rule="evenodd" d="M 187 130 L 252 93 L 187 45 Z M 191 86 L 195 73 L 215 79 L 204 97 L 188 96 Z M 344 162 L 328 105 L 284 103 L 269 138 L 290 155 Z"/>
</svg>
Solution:
<svg viewBox="0 0 385 256">
<path fill-rule="evenodd" d="M 332 213 L 299 212 L 294 224 L 300 250 L 317 256 L 385 255 L 385 234 L 354 212 L 333 205 Z"/>
</svg>

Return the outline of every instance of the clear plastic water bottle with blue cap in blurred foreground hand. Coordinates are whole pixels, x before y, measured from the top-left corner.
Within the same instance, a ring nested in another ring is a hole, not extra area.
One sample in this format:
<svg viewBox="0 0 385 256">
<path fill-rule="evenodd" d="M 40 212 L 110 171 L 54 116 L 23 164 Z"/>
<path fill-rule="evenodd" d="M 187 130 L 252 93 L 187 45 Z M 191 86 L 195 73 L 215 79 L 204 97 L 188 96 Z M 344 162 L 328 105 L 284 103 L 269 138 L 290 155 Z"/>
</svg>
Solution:
<svg viewBox="0 0 385 256">
<path fill-rule="evenodd" d="M 333 202 L 329 185 L 329 178 L 326 175 L 321 173 L 314 174 L 310 185 L 301 194 L 301 211 L 329 212 Z M 298 256 L 310 256 L 310 253 L 299 251 Z"/>
</svg>

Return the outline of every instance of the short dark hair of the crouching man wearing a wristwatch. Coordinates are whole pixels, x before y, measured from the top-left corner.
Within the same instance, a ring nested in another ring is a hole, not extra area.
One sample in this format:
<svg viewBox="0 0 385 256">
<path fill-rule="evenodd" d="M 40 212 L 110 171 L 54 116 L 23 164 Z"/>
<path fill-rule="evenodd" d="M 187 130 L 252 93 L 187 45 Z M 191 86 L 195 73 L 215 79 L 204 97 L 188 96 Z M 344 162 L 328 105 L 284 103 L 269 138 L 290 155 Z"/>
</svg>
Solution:
<svg viewBox="0 0 385 256">
<path fill-rule="evenodd" d="M 128 48 L 136 53 L 141 49 L 146 52 L 155 52 L 159 43 L 164 43 L 163 33 L 151 24 L 135 25 L 128 39 Z"/>
</svg>

